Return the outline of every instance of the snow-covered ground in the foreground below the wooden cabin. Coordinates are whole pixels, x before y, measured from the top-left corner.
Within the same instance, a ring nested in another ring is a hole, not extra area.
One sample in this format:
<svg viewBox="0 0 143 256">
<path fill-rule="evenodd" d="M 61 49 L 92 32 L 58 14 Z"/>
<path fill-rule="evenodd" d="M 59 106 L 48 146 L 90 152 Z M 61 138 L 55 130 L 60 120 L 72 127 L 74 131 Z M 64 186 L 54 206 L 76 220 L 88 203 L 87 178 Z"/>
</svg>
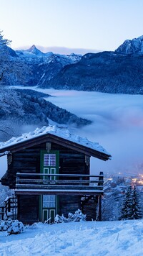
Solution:
<svg viewBox="0 0 143 256">
<path fill-rule="evenodd" d="M 21 234 L 0 232 L 1 256 L 141 256 L 143 220 L 34 224 Z"/>
</svg>

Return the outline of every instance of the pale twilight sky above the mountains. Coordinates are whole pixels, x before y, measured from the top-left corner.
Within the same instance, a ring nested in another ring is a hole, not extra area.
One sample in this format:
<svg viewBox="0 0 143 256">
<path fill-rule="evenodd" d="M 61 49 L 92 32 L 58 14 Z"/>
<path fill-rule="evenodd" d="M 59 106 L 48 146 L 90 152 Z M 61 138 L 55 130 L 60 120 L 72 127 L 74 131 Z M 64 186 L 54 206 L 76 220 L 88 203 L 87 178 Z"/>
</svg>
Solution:
<svg viewBox="0 0 143 256">
<path fill-rule="evenodd" d="M 142 9 L 142 0 L 0 0 L 0 29 L 12 48 L 115 50 L 143 35 Z"/>
</svg>

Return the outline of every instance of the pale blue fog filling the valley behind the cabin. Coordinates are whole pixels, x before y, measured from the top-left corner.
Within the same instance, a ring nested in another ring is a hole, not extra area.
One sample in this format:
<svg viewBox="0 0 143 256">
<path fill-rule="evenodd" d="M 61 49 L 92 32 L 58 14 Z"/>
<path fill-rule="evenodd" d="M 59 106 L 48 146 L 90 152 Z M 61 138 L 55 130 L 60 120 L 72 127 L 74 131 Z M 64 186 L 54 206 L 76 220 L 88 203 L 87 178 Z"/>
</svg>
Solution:
<svg viewBox="0 0 143 256">
<path fill-rule="evenodd" d="M 92 173 L 142 173 L 142 95 L 34 89 L 55 96 L 46 100 L 57 106 L 92 120 L 92 124 L 79 129 L 68 127 L 74 134 L 99 142 L 112 155 L 112 160 L 107 162 L 92 157 Z"/>
</svg>

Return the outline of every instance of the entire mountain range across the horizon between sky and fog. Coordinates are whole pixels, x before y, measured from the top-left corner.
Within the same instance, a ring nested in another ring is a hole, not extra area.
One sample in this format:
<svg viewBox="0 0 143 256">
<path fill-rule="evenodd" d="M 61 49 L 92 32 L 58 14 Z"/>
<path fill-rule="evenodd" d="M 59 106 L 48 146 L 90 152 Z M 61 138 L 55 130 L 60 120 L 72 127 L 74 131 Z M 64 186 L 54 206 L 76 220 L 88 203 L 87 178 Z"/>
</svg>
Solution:
<svg viewBox="0 0 143 256">
<path fill-rule="evenodd" d="M 59 55 L 10 50 L 11 60 L 23 67 L 25 81 L 9 73 L 5 84 L 104 93 L 143 93 L 143 36 L 125 40 L 114 52 Z M 14 65 L 11 63 L 14 69 Z M 25 65 L 25 66 L 24 66 Z"/>
</svg>

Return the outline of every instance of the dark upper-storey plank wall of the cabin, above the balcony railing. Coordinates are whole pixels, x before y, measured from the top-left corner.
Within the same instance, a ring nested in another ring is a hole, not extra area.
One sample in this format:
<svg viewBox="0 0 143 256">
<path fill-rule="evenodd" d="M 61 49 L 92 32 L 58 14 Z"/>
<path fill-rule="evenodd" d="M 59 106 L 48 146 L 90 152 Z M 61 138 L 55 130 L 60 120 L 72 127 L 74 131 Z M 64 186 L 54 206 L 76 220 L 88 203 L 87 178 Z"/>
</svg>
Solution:
<svg viewBox="0 0 143 256">
<path fill-rule="evenodd" d="M 2 184 L 15 188 L 16 173 L 40 173 L 41 150 L 46 150 L 46 143 L 15 152 L 12 157 L 10 155 L 8 171 Z M 59 150 L 59 173 L 89 174 L 84 154 L 54 143 L 51 143 L 51 150 Z"/>
</svg>

